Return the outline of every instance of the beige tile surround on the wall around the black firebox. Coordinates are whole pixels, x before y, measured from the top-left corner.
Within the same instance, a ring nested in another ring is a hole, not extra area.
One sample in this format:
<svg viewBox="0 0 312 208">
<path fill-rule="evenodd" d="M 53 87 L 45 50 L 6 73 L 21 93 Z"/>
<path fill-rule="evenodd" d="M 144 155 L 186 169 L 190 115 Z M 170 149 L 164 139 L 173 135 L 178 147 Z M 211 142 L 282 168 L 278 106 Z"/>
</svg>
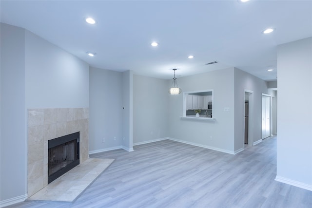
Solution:
<svg viewBox="0 0 312 208">
<path fill-rule="evenodd" d="M 89 108 L 28 109 L 28 197 L 48 185 L 48 141 L 80 132 L 80 164 L 89 157 Z"/>
</svg>

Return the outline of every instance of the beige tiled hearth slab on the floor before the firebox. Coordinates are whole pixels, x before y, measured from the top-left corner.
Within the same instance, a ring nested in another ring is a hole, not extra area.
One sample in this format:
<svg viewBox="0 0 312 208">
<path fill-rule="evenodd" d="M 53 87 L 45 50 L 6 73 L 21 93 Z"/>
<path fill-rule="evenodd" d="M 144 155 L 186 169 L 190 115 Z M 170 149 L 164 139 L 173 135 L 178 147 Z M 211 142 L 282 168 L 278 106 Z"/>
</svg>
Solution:
<svg viewBox="0 0 312 208">
<path fill-rule="evenodd" d="M 28 201 L 73 202 L 113 161 L 89 158 L 29 197 Z"/>
</svg>

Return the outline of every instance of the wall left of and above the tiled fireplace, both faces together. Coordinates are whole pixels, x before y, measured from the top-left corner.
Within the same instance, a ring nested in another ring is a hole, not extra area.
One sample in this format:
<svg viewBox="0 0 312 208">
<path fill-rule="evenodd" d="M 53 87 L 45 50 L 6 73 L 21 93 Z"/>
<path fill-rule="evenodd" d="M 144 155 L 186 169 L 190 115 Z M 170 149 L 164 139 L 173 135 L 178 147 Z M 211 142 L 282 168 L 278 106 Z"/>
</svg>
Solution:
<svg viewBox="0 0 312 208">
<path fill-rule="evenodd" d="M 88 108 L 89 66 L 24 29 L 0 32 L 3 201 L 27 193 L 27 109 Z"/>
</svg>

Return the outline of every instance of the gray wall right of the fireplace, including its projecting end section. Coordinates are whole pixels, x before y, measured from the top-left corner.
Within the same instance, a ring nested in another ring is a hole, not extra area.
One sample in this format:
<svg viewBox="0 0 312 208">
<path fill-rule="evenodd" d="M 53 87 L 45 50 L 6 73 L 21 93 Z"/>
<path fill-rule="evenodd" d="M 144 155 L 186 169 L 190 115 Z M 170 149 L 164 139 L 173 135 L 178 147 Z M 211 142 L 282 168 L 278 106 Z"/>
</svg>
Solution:
<svg viewBox="0 0 312 208">
<path fill-rule="evenodd" d="M 120 148 L 133 150 L 131 70 L 115 72 L 91 67 L 89 111 L 90 153 Z"/>
</svg>

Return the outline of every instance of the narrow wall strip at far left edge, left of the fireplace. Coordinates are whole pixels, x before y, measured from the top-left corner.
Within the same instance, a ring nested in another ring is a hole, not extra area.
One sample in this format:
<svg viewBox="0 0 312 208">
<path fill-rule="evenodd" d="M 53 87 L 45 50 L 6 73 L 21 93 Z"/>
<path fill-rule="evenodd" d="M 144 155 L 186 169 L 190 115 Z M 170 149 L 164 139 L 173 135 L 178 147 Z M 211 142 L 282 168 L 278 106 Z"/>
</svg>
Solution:
<svg viewBox="0 0 312 208">
<path fill-rule="evenodd" d="M 1 23 L 0 201 L 27 192 L 24 37 Z"/>
</svg>

